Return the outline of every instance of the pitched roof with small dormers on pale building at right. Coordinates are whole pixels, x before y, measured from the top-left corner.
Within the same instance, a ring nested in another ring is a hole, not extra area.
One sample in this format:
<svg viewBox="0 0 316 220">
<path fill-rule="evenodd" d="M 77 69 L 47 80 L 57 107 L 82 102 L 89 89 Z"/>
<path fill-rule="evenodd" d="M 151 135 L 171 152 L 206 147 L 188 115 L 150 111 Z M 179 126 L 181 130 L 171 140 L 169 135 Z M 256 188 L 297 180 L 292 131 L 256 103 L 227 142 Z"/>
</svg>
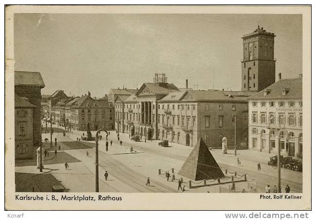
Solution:
<svg viewBox="0 0 316 220">
<path fill-rule="evenodd" d="M 282 95 L 283 91 L 286 89 L 285 95 Z M 264 91 L 267 91 L 264 95 Z M 260 92 L 250 96 L 247 100 L 268 100 L 268 99 L 302 99 L 303 89 L 302 89 L 302 77 L 294 79 L 281 79 L 278 82 L 266 87 Z"/>
</svg>

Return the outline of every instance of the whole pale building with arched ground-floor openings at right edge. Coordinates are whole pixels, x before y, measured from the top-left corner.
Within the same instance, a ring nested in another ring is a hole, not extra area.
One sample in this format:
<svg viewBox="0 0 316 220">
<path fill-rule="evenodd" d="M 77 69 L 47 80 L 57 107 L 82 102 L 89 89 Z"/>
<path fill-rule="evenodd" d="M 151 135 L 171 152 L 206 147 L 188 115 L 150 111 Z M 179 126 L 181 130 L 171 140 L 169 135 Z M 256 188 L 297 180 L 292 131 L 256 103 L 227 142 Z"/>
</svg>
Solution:
<svg viewBox="0 0 316 220">
<path fill-rule="evenodd" d="M 281 79 L 249 101 L 249 150 L 301 158 L 302 77 Z"/>
</svg>

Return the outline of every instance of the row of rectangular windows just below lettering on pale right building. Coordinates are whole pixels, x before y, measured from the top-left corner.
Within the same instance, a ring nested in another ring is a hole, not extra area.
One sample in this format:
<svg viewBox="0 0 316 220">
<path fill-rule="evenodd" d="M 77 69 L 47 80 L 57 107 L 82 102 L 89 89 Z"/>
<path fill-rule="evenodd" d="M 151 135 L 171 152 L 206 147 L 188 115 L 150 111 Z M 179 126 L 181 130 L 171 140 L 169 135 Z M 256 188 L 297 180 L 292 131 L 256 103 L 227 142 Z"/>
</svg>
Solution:
<svg viewBox="0 0 316 220">
<path fill-rule="evenodd" d="M 277 117 L 274 113 L 269 113 L 268 114 L 269 118 L 267 118 L 266 113 L 260 113 L 260 123 L 266 124 L 267 121 L 269 124 L 276 124 L 277 122 Z M 252 112 L 252 118 L 251 118 L 252 123 L 258 123 L 258 113 L 257 112 Z M 297 118 L 296 115 L 289 113 L 288 118 L 287 118 L 287 124 L 288 125 L 296 125 Z M 278 124 L 286 124 L 286 117 L 285 113 L 279 113 L 278 115 Z M 303 115 L 299 114 L 298 116 L 298 125 L 303 126 Z"/>
</svg>

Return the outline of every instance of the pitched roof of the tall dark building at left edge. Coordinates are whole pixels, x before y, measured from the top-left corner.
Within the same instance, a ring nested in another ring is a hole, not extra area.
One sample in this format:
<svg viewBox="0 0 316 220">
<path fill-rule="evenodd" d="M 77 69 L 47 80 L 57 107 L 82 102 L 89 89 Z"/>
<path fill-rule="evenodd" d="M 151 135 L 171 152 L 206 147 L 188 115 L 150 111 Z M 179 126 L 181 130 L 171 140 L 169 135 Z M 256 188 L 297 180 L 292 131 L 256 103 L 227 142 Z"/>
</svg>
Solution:
<svg viewBox="0 0 316 220">
<path fill-rule="evenodd" d="M 45 87 L 42 76 L 39 72 L 14 72 L 14 85 L 34 85 Z"/>
</svg>

